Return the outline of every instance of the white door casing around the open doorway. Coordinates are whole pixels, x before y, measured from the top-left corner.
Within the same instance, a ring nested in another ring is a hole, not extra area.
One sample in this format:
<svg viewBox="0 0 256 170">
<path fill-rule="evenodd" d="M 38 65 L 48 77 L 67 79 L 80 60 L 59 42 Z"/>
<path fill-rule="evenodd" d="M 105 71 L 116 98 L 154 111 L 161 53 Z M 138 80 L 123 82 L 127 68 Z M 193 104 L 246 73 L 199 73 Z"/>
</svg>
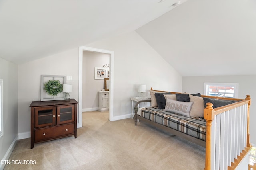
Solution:
<svg viewBox="0 0 256 170">
<path fill-rule="evenodd" d="M 83 86 L 83 52 L 84 51 L 91 51 L 91 52 L 97 52 L 97 53 L 105 53 L 109 54 L 110 58 L 110 84 L 109 84 L 109 110 L 108 110 L 108 119 L 110 121 L 113 120 L 114 112 L 113 112 L 113 94 L 114 94 L 114 51 L 108 51 L 104 49 L 96 49 L 92 47 L 86 47 L 81 46 L 79 47 L 79 85 L 78 85 L 78 121 L 77 121 L 77 127 L 82 127 L 82 86 Z"/>
</svg>

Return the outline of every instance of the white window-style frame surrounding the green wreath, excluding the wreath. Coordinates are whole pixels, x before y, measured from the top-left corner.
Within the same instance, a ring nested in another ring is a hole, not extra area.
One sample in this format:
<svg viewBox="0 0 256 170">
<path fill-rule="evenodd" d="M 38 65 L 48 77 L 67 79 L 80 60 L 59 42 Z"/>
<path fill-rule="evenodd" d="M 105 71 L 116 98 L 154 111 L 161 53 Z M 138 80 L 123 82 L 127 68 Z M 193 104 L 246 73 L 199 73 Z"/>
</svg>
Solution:
<svg viewBox="0 0 256 170">
<path fill-rule="evenodd" d="M 41 101 L 64 100 L 64 93 L 60 92 L 57 96 L 50 96 L 44 90 L 44 84 L 49 80 L 59 80 L 63 85 L 66 83 L 66 76 L 41 75 Z"/>
</svg>

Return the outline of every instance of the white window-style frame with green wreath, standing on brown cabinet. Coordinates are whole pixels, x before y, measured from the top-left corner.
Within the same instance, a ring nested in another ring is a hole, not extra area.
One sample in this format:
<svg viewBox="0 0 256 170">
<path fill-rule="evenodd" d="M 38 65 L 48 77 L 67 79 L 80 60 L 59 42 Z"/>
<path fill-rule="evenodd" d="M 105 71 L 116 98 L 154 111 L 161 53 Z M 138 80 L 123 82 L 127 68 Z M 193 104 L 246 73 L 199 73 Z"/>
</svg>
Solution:
<svg viewBox="0 0 256 170">
<path fill-rule="evenodd" d="M 41 75 L 41 101 L 64 100 L 66 76 Z"/>
</svg>

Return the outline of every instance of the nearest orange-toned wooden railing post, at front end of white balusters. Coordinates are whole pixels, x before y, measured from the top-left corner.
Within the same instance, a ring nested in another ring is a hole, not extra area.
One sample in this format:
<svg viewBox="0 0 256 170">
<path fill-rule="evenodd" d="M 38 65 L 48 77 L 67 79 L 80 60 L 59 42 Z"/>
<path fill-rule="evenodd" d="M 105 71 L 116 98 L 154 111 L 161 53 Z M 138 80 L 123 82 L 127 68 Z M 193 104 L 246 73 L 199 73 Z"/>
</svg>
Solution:
<svg viewBox="0 0 256 170">
<path fill-rule="evenodd" d="M 211 131 L 212 131 L 212 121 L 214 119 L 214 109 L 212 103 L 206 103 L 204 109 L 204 119 L 206 120 L 206 146 L 205 146 L 205 168 L 204 170 L 210 170 L 211 164 Z M 213 152 L 215 152 L 213 150 Z"/>
</svg>

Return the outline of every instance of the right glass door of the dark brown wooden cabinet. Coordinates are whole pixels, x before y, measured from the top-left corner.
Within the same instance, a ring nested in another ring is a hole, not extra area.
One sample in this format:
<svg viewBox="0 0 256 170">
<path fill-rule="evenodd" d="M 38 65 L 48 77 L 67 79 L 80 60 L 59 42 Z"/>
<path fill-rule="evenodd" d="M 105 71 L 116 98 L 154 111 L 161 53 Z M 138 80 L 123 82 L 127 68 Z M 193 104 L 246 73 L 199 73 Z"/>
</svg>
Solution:
<svg viewBox="0 0 256 170">
<path fill-rule="evenodd" d="M 57 107 L 57 125 L 74 122 L 75 117 L 74 117 L 74 114 L 72 114 L 74 113 L 74 111 L 75 111 L 74 105 L 58 106 Z"/>
</svg>

